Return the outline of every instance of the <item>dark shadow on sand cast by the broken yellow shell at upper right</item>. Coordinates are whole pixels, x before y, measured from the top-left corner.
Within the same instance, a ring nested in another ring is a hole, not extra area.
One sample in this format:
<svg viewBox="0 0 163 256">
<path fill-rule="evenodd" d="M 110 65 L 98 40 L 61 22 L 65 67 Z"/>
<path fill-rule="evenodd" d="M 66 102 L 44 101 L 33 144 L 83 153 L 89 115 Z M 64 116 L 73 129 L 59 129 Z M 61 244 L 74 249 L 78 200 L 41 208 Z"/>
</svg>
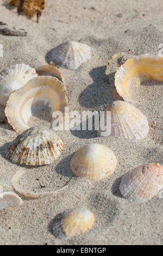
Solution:
<svg viewBox="0 0 163 256">
<path fill-rule="evenodd" d="M 95 108 L 97 106 L 108 105 L 112 101 L 121 99 L 116 92 L 114 84 L 109 84 L 105 76 L 105 69 L 106 66 L 99 66 L 90 71 L 89 74 L 92 77 L 93 83 L 80 93 L 78 101 L 81 106 Z M 110 74 L 110 80 L 114 74 L 115 73 Z"/>
</svg>

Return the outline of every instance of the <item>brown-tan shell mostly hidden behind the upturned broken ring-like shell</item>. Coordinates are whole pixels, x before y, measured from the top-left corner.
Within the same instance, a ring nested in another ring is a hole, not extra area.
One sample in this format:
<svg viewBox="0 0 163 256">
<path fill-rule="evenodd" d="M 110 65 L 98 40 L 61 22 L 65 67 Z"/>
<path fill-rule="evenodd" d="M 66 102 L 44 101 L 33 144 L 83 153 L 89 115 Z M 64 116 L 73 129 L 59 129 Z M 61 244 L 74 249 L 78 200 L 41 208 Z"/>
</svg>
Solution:
<svg viewBox="0 0 163 256">
<path fill-rule="evenodd" d="M 39 76 L 54 76 L 57 77 L 61 82 L 64 83 L 64 78 L 61 75 L 61 72 L 55 65 L 43 65 L 36 68 L 37 74 Z"/>
</svg>

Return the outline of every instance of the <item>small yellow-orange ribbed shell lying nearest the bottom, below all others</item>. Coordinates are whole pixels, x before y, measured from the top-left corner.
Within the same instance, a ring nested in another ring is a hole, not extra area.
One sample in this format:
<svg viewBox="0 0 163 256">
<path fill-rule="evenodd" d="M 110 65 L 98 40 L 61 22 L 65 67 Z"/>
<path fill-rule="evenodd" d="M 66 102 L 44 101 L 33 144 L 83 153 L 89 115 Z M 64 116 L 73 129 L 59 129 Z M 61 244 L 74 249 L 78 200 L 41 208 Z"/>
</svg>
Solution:
<svg viewBox="0 0 163 256">
<path fill-rule="evenodd" d="M 57 238 L 72 239 L 92 228 L 94 222 L 91 211 L 84 208 L 68 209 L 55 218 L 53 233 Z"/>
</svg>

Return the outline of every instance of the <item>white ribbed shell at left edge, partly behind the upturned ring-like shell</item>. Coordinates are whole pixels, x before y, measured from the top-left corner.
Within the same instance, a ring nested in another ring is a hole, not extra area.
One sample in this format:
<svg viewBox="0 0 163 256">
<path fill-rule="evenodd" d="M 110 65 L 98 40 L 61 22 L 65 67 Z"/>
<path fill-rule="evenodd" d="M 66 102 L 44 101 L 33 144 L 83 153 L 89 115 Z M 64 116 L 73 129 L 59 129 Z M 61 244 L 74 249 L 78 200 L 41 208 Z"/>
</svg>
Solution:
<svg viewBox="0 0 163 256">
<path fill-rule="evenodd" d="M 10 94 L 36 77 L 36 71 L 25 64 L 16 64 L 4 69 L 0 74 L 0 102 L 5 106 Z"/>
</svg>

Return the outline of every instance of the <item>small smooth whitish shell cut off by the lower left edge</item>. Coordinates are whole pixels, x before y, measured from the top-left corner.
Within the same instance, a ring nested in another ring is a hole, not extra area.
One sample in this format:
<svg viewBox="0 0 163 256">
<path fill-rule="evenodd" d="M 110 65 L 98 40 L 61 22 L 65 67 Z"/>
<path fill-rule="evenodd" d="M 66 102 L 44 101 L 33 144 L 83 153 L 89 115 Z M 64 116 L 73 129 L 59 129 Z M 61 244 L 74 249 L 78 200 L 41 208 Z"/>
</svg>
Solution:
<svg viewBox="0 0 163 256">
<path fill-rule="evenodd" d="M 4 192 L 0 194 L 0 210 L 7 207 L 19 208 L 22 203 L 22 199 L 15 193 Z"/>
</svg>

